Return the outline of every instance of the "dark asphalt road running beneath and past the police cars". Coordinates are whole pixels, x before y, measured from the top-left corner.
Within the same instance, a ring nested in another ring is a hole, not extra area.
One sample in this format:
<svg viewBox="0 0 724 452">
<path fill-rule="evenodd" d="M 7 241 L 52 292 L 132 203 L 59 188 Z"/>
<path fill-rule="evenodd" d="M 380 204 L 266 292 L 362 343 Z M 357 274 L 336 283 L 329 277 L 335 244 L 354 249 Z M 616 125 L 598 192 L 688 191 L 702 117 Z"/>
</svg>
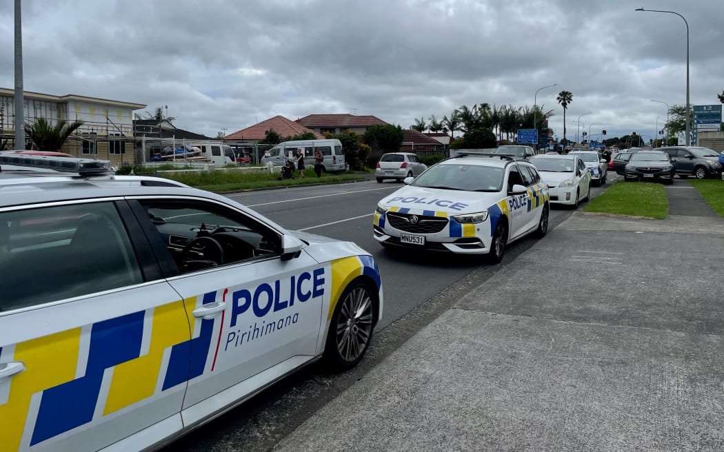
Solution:
<svg viewBox="0 0 724 452">
<path fill-rule="evenodd" d="M 615 179 L 609 175 L 609 180 Z M 603 188 L 592 187 L 595 197 Z M 300 425 L 319 407 L 363 378 L 469 289 L 510 265 L 534 243 L 515 242 L 500 265 L 484 265 L 477 257 L 411 255 L 384 250 L 372 238 L 372 213 L 377 202 L 402 187 L 374 180 L 350 184 L 293 187 L 228 195 L 287 229 L 355 242 L 377 261 L 384 286 L 384 318 L 365 359 L 344 374 L 311 366 L 292 375 L 219 419 L 170 445 L 166 451 L 264 451 Z M 571 210 L 553 207 L 550 225 L 568 218 Z"/>
</svg>

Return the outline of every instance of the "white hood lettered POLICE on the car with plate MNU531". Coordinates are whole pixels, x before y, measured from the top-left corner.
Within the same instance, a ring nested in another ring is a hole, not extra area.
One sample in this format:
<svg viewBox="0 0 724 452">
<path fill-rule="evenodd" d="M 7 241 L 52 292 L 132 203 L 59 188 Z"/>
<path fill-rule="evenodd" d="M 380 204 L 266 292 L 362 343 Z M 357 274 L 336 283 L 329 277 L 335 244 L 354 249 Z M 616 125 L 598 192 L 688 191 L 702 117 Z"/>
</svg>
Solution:
<svg viewBox="0 0 724 452">
<path fill-rule="evenodd" d="M 458 215 L 486 210 L 505 197 L 504 192 L 464 192 L 408 186 L 387 195 L 379 203 L 385 208 L 433 212 L 428 214 L 431 216 L 434 212 Z"/>
</svg>

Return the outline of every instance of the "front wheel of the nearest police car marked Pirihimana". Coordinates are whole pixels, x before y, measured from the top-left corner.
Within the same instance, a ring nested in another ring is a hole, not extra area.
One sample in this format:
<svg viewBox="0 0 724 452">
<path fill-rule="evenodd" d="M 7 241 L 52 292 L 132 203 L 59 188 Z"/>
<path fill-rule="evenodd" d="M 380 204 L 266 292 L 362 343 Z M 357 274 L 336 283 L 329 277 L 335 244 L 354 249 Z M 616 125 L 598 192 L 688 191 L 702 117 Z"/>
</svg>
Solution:
<svg viewBox="0 0 724 452">
<path fill-rule="evenodd" d="M 348 370 L 364 357 L 374 332 L 377 299 L 369 283 L 356 280 L 342 291 L 329 322 L 324 360 L 332 370 Z"/>
</svg>

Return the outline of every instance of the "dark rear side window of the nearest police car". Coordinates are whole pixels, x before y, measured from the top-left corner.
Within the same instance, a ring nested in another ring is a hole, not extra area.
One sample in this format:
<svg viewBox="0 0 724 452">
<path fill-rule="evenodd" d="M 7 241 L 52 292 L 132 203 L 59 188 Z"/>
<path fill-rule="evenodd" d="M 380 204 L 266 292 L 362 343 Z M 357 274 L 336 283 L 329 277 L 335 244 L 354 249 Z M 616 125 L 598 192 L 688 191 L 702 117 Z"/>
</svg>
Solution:
<svg viewBox="0 0 724 452">
<path fill-rule="evenodd" d="M 0 311 L 143 282 L 112 202 L 0 213 L 0 272 Z"/>
</svg>

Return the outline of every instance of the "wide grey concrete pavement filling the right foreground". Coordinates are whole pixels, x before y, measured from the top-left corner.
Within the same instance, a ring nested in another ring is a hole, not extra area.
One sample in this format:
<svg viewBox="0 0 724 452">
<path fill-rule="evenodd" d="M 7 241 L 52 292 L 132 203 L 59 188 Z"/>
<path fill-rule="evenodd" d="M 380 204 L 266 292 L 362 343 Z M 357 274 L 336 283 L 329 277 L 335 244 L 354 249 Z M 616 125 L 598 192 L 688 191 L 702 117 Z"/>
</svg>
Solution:
<svg viewBox="0 0 724 452">
<path fill-rule="evenodd" d="M 274 450 L 724 451 L 723 419 L 724 218 L 576 212 Z"/>
</svg>

